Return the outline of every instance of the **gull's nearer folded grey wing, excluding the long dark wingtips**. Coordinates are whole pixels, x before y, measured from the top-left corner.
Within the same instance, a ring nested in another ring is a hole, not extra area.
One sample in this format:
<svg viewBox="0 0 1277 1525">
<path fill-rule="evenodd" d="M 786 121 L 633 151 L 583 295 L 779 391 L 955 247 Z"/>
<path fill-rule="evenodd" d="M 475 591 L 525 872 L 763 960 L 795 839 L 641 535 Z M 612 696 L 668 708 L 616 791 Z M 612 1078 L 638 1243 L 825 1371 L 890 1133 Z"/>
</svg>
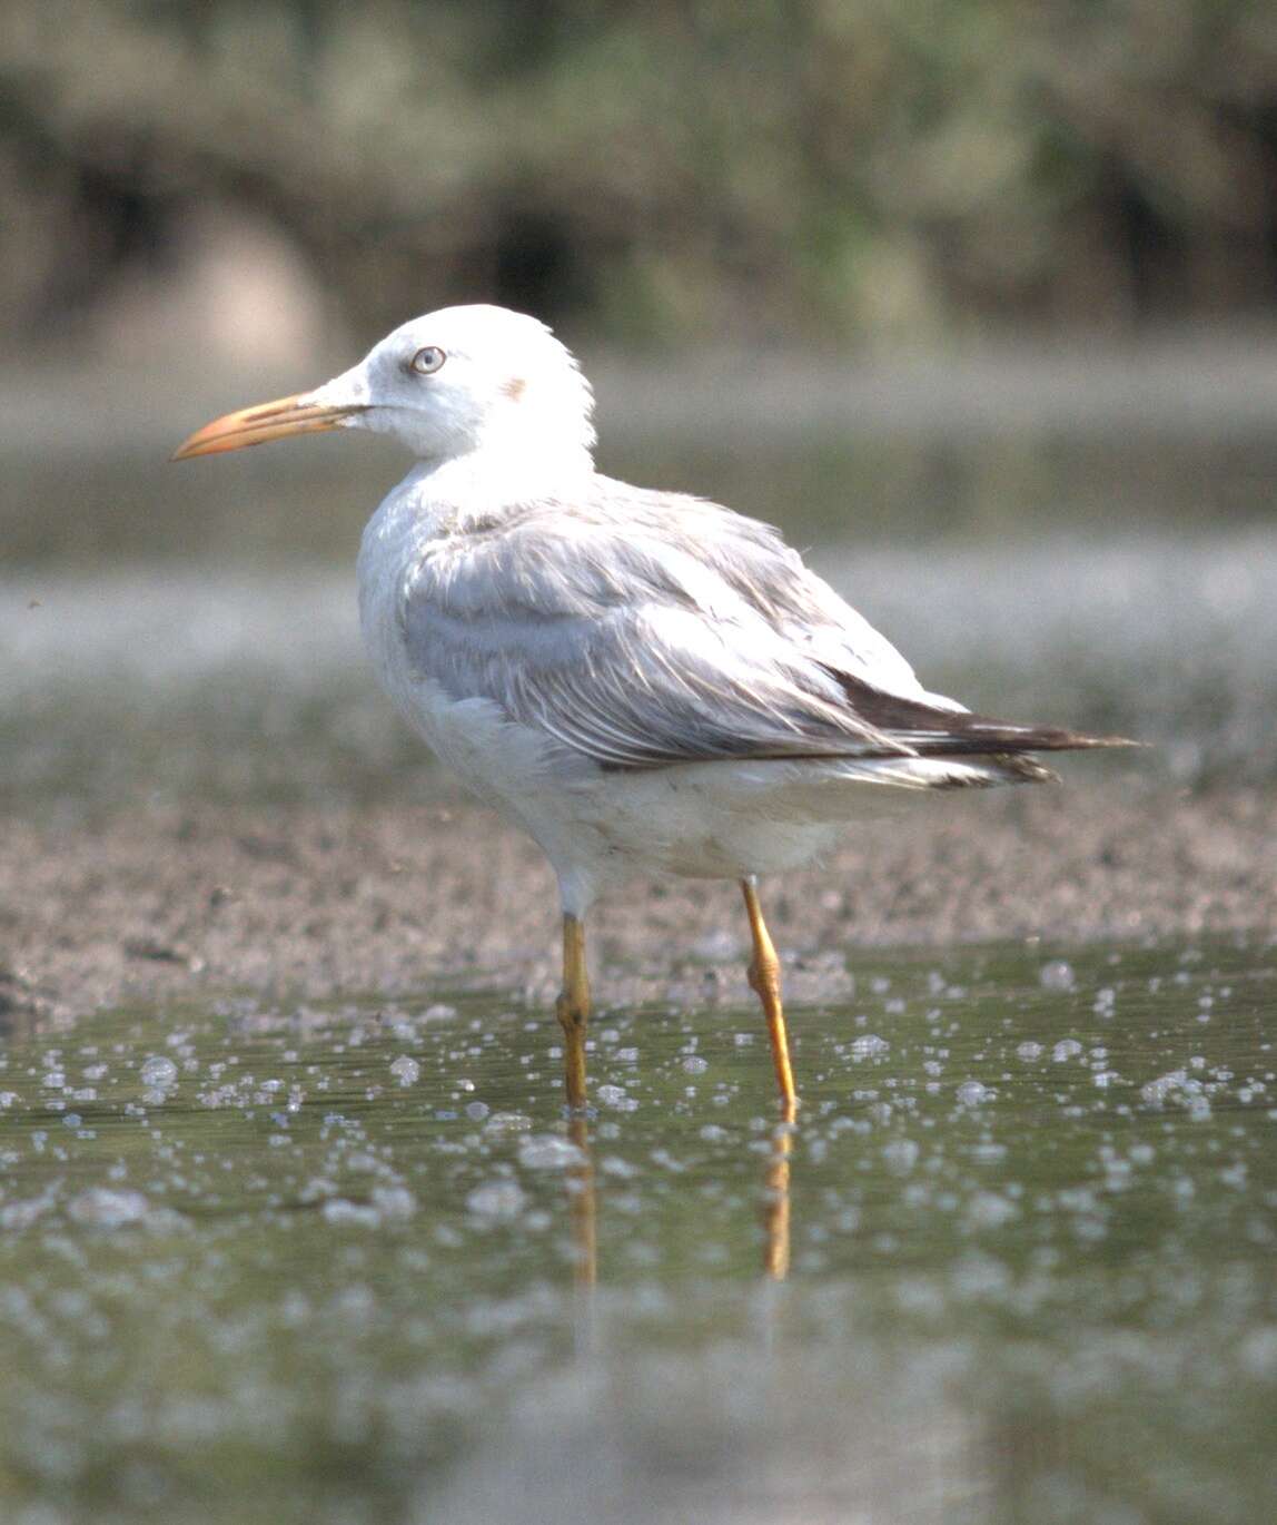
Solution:
<svg viewBox="0 0 1277 1525">
<path fill-rule="evenodd" d="M 413 569 L 399 619 L 418 677 L 605 767 L 910 752 L 695 541 L 544 517 L 457 537 Z"/>
</svg>

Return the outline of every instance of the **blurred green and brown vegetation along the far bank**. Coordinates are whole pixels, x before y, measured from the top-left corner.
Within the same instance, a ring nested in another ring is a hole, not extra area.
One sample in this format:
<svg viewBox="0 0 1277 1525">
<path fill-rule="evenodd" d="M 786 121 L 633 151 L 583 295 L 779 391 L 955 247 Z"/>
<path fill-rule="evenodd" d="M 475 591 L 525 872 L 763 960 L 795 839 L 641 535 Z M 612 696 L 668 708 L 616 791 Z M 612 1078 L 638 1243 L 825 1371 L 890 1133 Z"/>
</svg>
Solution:
<svg viewBox="0 0 1277 1525">
<path fill-rule="evenodd" d="M 364 331 L 1123 328 L 1277 302 L 1272 0 L 5 0 L 0 300 L 61 332 L 198 209 Z"/>
</svg>

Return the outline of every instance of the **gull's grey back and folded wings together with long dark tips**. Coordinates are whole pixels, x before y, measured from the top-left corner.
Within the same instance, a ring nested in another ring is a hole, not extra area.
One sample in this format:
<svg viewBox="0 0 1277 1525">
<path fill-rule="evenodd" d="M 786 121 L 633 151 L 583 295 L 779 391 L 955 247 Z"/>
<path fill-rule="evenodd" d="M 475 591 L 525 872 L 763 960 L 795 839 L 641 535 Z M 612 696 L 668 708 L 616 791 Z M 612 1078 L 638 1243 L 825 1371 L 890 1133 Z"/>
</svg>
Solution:
<svg viewBox="0 0 1277 1525">
<path fill-rule="evenodd" d="M 768 526 L 613 486 L 434 541 L 401 596 L 414 673 L 613 769 L 1094 744 L 927 694 Z"/>
</svg>

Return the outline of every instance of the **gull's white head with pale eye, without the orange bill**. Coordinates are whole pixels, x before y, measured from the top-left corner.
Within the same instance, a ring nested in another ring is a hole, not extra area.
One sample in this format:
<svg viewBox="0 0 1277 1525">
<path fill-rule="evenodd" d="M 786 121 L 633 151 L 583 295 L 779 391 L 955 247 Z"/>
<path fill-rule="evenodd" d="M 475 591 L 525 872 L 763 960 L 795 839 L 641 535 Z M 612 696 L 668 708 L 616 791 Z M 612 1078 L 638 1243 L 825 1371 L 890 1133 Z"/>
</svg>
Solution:
<svg viewBox="0 0 1277 1525">
<path fill-rule="evenodd" d="M 504 307 L 414 317 L 299 401 L 340 409 L 343 427 L 393 435 L 436 465 L 492 451 L 587 464 L 594 445 L 594 398 L 571 352 Z"/>
</svg>

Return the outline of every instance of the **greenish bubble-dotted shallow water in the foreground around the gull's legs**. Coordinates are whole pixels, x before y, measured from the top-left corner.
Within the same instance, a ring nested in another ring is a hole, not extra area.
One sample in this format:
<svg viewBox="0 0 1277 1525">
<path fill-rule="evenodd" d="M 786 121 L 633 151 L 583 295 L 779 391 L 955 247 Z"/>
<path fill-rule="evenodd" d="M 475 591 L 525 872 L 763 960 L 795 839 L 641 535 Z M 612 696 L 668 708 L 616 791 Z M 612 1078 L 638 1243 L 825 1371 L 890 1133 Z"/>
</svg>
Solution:
<svg viewBox="0 0 1277 1525">
<path fill-rule="evenodd" d="M 852 967 L 788 1153 L 750 1010 L 600 1013 L 585 1153 L 514 994 L 12 1031 L 0 1513 L 1272 1517 L 1277 953 Z"/>
</svg>

